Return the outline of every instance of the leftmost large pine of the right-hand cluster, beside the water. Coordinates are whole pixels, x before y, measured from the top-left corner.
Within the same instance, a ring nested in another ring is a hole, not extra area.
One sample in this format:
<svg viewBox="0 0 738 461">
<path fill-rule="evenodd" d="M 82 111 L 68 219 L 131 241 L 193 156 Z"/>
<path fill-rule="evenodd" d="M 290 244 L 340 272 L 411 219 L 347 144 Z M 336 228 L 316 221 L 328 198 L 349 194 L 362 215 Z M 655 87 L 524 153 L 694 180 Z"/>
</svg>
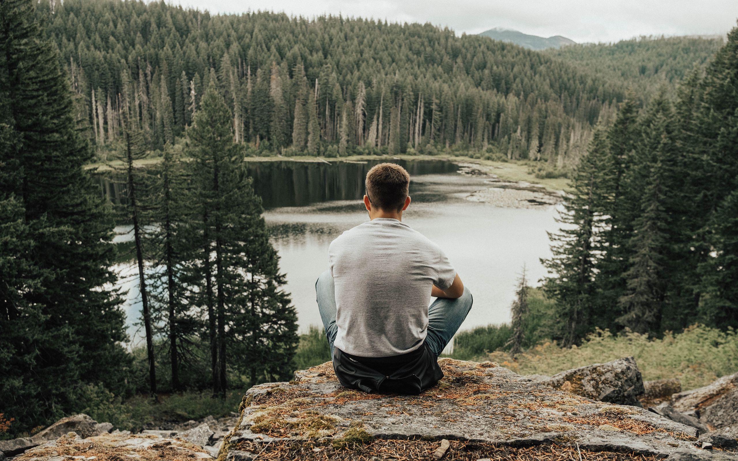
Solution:
<svg viewBox="0 0 738 461">
<path fill-rule="evenodd" d="M 545 294 L 556 301 L 556 316 L 562 322 L 565 346 L 579 342 L 596 315 L 595 267 L 601 257 L 601 232 L 604 216 L 601 205 L 607 198 L 607 142 L 599 130 L 589 152 L 572 178 L 572 195 L 564 200 L 564 212 L 557 221 L 565 227 L 550 233 L 554 257 L 542 260 L 551 274 L 545 279 Z"/>
</svg>

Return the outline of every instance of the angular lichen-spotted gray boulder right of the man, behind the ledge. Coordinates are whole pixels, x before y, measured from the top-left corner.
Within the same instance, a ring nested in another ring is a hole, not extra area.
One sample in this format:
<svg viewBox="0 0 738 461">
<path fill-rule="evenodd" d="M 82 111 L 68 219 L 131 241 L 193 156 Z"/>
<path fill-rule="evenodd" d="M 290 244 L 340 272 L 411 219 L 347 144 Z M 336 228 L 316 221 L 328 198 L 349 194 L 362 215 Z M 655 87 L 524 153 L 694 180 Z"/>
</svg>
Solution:
<svg viewBox="0 0 738 461">
<path fill-rule="evenodd" d="M 542 384 L 596 401 L 638 405 L 644 393 L 641 372 L 632 357 L 560 372 Z"/>
</svg>

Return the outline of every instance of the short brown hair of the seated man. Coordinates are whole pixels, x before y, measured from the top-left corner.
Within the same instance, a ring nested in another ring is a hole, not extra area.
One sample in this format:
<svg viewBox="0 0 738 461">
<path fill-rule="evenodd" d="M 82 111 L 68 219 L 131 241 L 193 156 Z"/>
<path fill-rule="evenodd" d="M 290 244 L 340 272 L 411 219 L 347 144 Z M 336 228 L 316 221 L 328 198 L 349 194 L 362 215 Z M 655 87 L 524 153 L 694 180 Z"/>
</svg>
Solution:
<svg viewBox="0 0 738 461">
<path fill-rule="evenodd" d="M 373 206 L 400 211 L 410 190 L 410 175 L 399 164 L 380 163 L 367 173 L 366 187 Z"/>
</svg>

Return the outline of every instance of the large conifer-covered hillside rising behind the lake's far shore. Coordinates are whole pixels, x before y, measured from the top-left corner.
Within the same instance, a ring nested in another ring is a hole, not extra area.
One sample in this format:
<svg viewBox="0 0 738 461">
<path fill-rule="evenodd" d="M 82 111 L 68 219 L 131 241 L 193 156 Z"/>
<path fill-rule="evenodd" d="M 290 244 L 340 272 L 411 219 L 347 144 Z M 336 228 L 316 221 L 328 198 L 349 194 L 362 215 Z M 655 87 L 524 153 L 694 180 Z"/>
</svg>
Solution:
<svg viewBox="0 0 738 461">
<path fill-rule="evenodd" d="M 622 87 L 511 44 L 430 24 L 210 15 L 164 2 L 42 2 L 98 146 L 120 137 L 130 87 L 151 148 L 218 81 L 236 142 L 345 155 L 463 148 L 573 164 Z"/>
</svg>

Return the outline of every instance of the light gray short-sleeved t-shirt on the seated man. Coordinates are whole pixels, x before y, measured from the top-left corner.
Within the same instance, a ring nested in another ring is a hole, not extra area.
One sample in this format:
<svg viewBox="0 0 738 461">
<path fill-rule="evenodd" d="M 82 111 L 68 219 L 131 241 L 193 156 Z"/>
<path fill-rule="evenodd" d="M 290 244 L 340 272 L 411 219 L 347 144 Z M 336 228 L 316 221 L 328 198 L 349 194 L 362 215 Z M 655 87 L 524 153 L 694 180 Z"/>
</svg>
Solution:
<svg viewBox="0 0 738 461">
<path fill-rule="evenodd" d="M 331 242 L 336 285 L 336 347 L 359 357 L 389 357 L 423 344 L 432 285 L 456 271 L 435 243 L 396 219 L 375 218 Z"/>
</svg>

